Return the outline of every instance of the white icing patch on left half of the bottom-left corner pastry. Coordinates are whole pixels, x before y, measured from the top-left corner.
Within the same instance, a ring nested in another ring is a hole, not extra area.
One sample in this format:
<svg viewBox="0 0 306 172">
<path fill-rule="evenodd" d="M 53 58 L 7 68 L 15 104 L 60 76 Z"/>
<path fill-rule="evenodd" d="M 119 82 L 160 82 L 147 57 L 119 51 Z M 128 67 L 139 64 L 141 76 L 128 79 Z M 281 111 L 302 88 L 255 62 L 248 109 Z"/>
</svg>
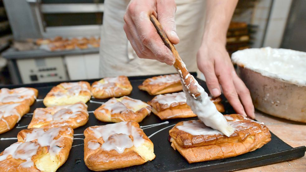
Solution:
<svg viewBox="0 0 306 172">
<path fill-rule="evenodd" d="M 38 148 L 39 144 L 36 142 L 16 142 L 3 151 L 3 155 L 0 156 L 0 161 L 12 155 L 14 159 L 26 160 L 26 162 L 22 162 L 20 165 L 24 168 L 29 168 L 34 165 L 32 156 L 36 155 Z"/>
</svg>

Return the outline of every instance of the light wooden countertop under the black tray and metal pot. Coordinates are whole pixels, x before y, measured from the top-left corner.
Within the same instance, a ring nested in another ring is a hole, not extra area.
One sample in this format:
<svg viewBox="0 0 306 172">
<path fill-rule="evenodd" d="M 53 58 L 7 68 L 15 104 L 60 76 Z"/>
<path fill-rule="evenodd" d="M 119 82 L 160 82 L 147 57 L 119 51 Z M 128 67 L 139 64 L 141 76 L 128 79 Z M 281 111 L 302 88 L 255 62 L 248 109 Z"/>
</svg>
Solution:
<svg viewBox="0 0 306 172">
<path fill-rule="evenodd" d="M 286 119 L 273 117 L 268 114 L 264 114 L 260 111 L 255 112 L 256 119 L 260 122 L 264 122 L 265 125 L 273 132 L 277 137 L 292 147 L 306 146 L 306 123 L 294 122 Z M 238 170 L 239 172 L 287 172 L 287 171 L 306 171 L 306 156 L 291 160 L 287 162 L 281 162 L 272 165 L 260 166 L 245 170 Z"/>
</svg>

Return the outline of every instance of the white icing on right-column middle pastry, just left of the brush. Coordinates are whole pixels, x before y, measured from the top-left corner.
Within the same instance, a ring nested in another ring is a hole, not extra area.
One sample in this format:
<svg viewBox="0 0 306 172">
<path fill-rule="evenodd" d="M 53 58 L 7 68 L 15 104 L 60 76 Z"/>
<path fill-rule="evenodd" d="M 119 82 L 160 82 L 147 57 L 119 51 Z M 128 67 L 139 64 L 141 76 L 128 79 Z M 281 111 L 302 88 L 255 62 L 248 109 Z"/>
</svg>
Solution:
<svg viewBox="0 0 306 172">
<path fill-rule="evenodd" d="M 172 103 L 186 102 L 186 95 L 183 91 L 172 94 L 160 94 L 157 95 L 153 101 L 157 101 L 159 104 L 165 104 L 170 106 Z"/>
</svg>

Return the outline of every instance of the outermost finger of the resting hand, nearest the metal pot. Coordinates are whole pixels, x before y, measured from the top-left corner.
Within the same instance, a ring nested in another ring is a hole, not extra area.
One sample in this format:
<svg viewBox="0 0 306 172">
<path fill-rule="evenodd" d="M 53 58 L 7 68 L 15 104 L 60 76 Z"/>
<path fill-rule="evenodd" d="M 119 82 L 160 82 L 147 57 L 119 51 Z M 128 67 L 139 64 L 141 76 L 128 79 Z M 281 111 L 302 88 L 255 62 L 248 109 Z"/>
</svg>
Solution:
<svg viewBox="0 0 306 172">
<path fill-rule="evenodd" d="M 238 93 L 238 96 L 240 97 L 240 100 L 243 104 L 245 112 L 247 116 L 251 117 L 252 119 L 255 119 L 255 109 L 250 95 L 250 91 L 247 89 L 247 86 L 245 86 L 243 81 L 237 76 L 236 72 L 233 72 L 233 83 Z"/>
</svg>

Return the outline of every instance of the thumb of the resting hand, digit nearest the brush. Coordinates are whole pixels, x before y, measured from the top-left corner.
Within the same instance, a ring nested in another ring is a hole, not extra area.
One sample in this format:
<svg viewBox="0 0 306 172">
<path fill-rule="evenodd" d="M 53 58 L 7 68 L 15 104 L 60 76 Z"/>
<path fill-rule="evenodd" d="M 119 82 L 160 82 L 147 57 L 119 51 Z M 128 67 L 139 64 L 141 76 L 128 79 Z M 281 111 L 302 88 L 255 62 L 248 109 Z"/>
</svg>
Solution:
<svg viewBox="0 0 306 172">
<path fill-rule="evenodd" d="M 201 59 L 201 58 L 197 58 L 197 59 Z M 219 95 L 221 95 L 221 89 L 220 89 L 218 78 L 216 77 L 216 74 L 214 72 L 213 62 L 209 62 L 209 61 L 199 62 L 198 61 L 197 64 L 198 64 L 199 70 L 203 72 L 205 76 L 206 85 L 208 87 L 210 94 L 214 97 L 218 97 Z"/>
</svg>

